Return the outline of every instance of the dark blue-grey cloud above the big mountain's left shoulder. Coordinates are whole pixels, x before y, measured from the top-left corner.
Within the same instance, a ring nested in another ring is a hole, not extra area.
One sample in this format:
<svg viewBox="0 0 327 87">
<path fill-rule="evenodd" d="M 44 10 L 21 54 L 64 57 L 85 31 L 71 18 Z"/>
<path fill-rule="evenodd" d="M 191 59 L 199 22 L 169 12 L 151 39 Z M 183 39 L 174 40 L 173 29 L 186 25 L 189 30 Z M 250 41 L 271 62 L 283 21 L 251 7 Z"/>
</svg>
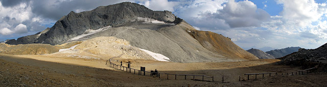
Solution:
<svg viewBox="0 0 327 87">
<path fill-rule="evenodd" d="M 89 1 L 89 0 L 75 0 L 75 1 L 44 1 L 36 0 L 33 1 L 32 12 L 37 16 L 43 18 L 50 18 L 52 20 L 58 20 L 62 16 L 67 15 L 69 12 L 81 12 L 89 11 L 95 9 L 99 6 L 108 6 L 120 2 L 120 0 L 99 0 L 99 1 Z"/>
</svg>

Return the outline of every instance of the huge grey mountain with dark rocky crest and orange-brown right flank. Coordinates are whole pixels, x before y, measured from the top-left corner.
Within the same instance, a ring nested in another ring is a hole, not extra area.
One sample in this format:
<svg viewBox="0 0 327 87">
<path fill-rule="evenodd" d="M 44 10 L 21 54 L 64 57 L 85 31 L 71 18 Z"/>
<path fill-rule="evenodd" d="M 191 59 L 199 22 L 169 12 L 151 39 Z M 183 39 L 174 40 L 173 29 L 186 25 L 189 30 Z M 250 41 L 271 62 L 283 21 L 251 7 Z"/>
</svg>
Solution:
<svg viewBox="0 0 327 87">
<path fill-rule="evenodd" d="M 230 39 L 197 31 L 169 11 L 152 11 L 125 2 L 81 13 L 70 12 L 46 30 L 7 44 L 63 44 L 97 37 L 127 40 L 133 47 L 160 53 L 172 62 L 230 62 L 258 59 Z M 137 54 L 135 54 L 137 55 Z"/>
</svg>

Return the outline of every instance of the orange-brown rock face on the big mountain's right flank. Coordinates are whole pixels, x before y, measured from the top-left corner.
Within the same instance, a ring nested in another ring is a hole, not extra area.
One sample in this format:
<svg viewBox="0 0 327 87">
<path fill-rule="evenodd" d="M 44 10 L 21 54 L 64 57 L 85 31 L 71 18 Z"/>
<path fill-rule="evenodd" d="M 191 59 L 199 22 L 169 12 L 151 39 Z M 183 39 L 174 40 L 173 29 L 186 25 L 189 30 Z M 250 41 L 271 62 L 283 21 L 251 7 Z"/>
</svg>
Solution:
<svg viewBox="0 0 327 87">
<path fill-rule="evenodd" d="M 229 38 L 208 31 L 187 31 L 194 39 L 198 40 L 206 49 L 219 53 L 226 57 L 243 58 L 248 60 L 258 59 L 258 57 L 245 51 L 234 44 Z"/>
</svg>

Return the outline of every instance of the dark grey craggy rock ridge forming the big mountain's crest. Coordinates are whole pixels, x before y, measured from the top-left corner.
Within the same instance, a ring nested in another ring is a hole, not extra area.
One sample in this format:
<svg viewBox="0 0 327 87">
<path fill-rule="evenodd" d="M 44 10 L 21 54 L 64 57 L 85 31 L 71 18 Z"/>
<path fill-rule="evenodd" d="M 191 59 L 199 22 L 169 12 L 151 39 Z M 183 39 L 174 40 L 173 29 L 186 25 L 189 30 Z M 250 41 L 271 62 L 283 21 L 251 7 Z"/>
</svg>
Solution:
<svg viewBox="0 0 327 87">
<path fill-rule="evenodd" d="M 41 35 L 31 35 L 9 40 L 7 44 L 45 43 L 56 45 L 69 38 L 81 35 L 85 30 L 97 30 L 103 26 L 119 25 L 134 21 L 137 17 L 152 18 L 172 22 L 175 16 L 169 11 L 152 11 L 145 6 L 135 3 L 120 3 L 101 6 L 91 11 L 81 13 L 70 12 L 60 18 L 48 32 Z"/>
</svg>

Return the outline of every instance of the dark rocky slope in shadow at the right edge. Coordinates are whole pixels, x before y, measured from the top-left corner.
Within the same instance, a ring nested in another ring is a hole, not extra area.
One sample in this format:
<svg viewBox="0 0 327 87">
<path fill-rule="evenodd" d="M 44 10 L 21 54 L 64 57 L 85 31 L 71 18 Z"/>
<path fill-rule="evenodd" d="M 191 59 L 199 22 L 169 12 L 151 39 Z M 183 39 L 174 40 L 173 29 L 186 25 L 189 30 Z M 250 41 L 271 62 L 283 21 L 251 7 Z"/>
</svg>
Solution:
<svg viewBox="0 0 327 87">
<path fill-rule="evenodd" d="M 286 55 L 281 59 L 281 64 L 302 66 L 302 68 L 317 68 L 327 72 L 327 43 L 316 49 L 299 49 L 298 52 Z"/>
</svg>

